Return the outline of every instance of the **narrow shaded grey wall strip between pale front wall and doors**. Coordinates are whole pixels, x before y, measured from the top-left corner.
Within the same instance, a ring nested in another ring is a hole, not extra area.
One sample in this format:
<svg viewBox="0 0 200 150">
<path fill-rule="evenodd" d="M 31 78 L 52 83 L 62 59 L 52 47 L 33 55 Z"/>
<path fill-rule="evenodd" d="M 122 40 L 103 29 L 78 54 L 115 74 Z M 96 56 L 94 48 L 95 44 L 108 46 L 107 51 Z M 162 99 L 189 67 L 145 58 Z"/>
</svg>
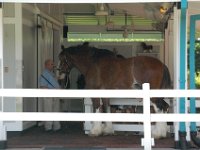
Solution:
<svg viewBox="0 0 200 150">
<path fill-rule="evenodd" d="M 23 88 L 37 88 L 37 28 L 36 15 L 23 8 Z M 23 98 L 23 112 L 36 112 L 37 98 Z M 23 122 L 26 129 L 36 122 Z"/>
</svg>

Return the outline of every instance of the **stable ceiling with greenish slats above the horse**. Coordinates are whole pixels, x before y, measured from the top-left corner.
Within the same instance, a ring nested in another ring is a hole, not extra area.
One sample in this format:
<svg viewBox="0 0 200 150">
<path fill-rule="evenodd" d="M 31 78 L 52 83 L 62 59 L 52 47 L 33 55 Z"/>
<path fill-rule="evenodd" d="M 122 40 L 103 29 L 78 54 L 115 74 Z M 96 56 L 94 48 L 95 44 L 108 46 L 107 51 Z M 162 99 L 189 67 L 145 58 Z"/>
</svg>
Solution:
<svg viewBox="0 0 200 150">
<path fill-rule="evenodd" d="M 107 16 L 97 16 L 102 9 Z M 152 24 L 163 21 L 160 7 L 170 8 L 173 3 L 106 3 L 106 4 L 66 4 L 66 24 L 75 25 L 108 25 L 124 26 L 126 23 L 133 30 L 155 30 Z M 125 14 L 127 19 L 125 20 Z"/>
</svg>

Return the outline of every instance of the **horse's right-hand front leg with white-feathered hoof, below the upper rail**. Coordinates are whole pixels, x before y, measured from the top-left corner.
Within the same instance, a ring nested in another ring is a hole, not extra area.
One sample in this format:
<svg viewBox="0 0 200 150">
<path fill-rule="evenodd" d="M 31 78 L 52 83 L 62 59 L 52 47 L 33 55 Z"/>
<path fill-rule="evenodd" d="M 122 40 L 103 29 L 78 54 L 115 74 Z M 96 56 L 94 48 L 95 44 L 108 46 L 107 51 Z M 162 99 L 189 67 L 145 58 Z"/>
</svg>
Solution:
<svg viewBox="0 0 200 150">
<path fill-rule="evenodd" d="M 108 98 L 103 98 L 103 110 L 104 112 L 110 113 L 110 101 Z M 103 135 L 113 135 L 114 130 L 113 130 L 113 125 L 112 122 L 105 122 L 103 126 Z"/>
</svg>

